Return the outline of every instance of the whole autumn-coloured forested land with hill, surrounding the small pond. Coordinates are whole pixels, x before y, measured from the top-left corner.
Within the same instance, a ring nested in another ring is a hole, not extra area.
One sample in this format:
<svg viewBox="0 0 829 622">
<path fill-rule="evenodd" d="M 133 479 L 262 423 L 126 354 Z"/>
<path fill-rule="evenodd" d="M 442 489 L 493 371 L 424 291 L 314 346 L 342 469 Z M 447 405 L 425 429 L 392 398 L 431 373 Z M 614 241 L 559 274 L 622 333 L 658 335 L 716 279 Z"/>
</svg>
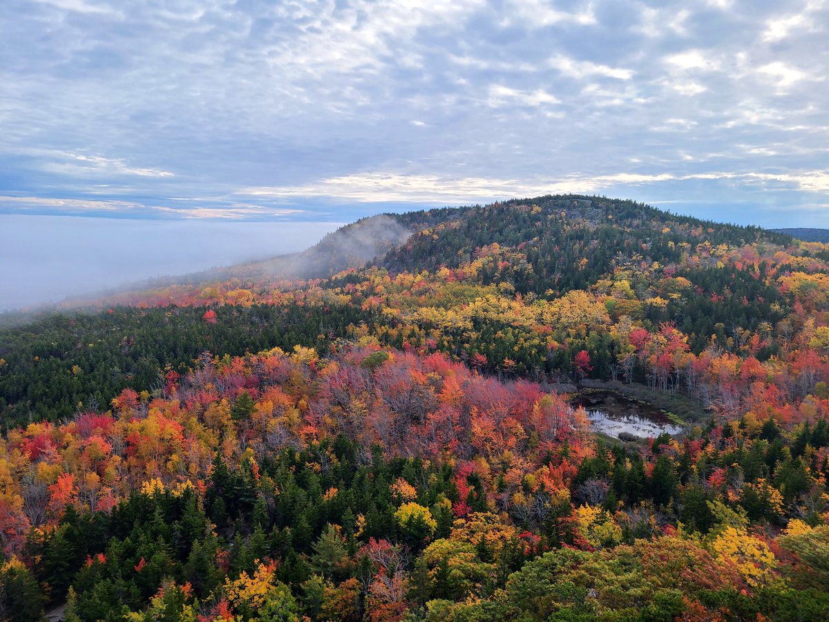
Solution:
<svg viewBox="0 0 829 622">
<path fill-rule="evenodd" d="M 825 620 L 813 231 L 516 199 L 0 317 L 0 619 Z"/>
</svg>

